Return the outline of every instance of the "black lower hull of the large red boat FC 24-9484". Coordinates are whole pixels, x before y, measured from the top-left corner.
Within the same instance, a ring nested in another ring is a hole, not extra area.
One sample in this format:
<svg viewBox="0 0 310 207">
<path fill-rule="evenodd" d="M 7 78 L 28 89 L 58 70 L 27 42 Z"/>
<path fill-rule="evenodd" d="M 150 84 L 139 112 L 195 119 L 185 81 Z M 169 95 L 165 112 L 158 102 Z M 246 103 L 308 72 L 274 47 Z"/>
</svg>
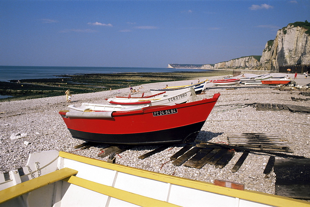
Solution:
<svg viewBox="0 0 310 207">
<path fill-rule="evenodd" d="M 100 134 L 68 129 L 73 138 L 88 142 L 108 144 L 188 143 L 196 139 L 204 123 L 205 121 L 177 128 L 133 134 Z"/>
</svg>

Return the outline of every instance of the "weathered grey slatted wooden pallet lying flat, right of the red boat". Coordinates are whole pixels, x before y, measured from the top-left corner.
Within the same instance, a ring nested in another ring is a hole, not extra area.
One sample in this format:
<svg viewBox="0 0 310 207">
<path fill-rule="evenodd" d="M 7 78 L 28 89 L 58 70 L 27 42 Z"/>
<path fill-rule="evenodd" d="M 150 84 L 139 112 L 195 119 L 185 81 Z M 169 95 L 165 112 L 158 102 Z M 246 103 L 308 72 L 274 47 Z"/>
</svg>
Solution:
<svg viewBox="0 0 310 207">
<path fill-rule="evenodd" d="M 227 136 L 228 144 L 255 150 L 293 152 L 291 142 L 280 134 L 270 133 L 231 133 Z"/>
</svg>

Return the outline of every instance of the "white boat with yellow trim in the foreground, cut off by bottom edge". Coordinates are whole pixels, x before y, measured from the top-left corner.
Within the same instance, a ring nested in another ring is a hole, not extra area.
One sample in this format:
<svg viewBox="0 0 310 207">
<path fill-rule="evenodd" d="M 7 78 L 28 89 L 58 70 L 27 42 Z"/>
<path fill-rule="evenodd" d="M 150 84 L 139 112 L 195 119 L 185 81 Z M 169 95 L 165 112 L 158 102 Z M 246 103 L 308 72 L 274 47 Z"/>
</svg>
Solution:
<svg viewBox="0 0 310 207">
<path fill-rule="evenodd" d="M 30 154 L 27 166 L 0 174 L 0 206 L 309 206 L 232 184 L 223 187 L 55 150 Z"/>
</svg>

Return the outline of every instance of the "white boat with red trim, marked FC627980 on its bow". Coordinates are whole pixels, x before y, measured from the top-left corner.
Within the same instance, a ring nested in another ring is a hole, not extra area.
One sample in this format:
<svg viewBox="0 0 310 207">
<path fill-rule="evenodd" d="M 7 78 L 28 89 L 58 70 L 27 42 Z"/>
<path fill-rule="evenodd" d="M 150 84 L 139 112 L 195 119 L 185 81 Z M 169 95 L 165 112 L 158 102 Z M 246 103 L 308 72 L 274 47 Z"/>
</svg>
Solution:
<svg viewBox="0 0 310 207">
<path fill-rule="evenodd" d="M 175 95 L 171 96 L 163 96 L 163 97 L 156 97 L 156 98 L 109 98 L 107 101 L 112 105 L 131 105 L 131 106 L 140 106 L 150 104 L 150 106 L 158 106 L 158 105 L 165 105 L 165 106 L 173 106 L 175 104 L 186 103 L 192 94 L 190 88 L 187 90 L 181 91 Z"/>
</svg>

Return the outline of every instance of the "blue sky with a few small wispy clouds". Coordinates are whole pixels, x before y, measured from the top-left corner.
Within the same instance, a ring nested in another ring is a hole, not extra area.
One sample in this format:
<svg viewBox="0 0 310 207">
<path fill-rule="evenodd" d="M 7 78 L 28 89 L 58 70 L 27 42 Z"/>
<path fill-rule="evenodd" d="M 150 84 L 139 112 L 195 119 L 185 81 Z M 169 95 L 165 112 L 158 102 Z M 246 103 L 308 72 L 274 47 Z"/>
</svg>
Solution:
<svg viewBox="0 0 310 207">
<path fill-rule="evenodd" d="M 0 65 L 167 67 L 262 55 L 310 1 L 0 0 Z"/>
</svg>

